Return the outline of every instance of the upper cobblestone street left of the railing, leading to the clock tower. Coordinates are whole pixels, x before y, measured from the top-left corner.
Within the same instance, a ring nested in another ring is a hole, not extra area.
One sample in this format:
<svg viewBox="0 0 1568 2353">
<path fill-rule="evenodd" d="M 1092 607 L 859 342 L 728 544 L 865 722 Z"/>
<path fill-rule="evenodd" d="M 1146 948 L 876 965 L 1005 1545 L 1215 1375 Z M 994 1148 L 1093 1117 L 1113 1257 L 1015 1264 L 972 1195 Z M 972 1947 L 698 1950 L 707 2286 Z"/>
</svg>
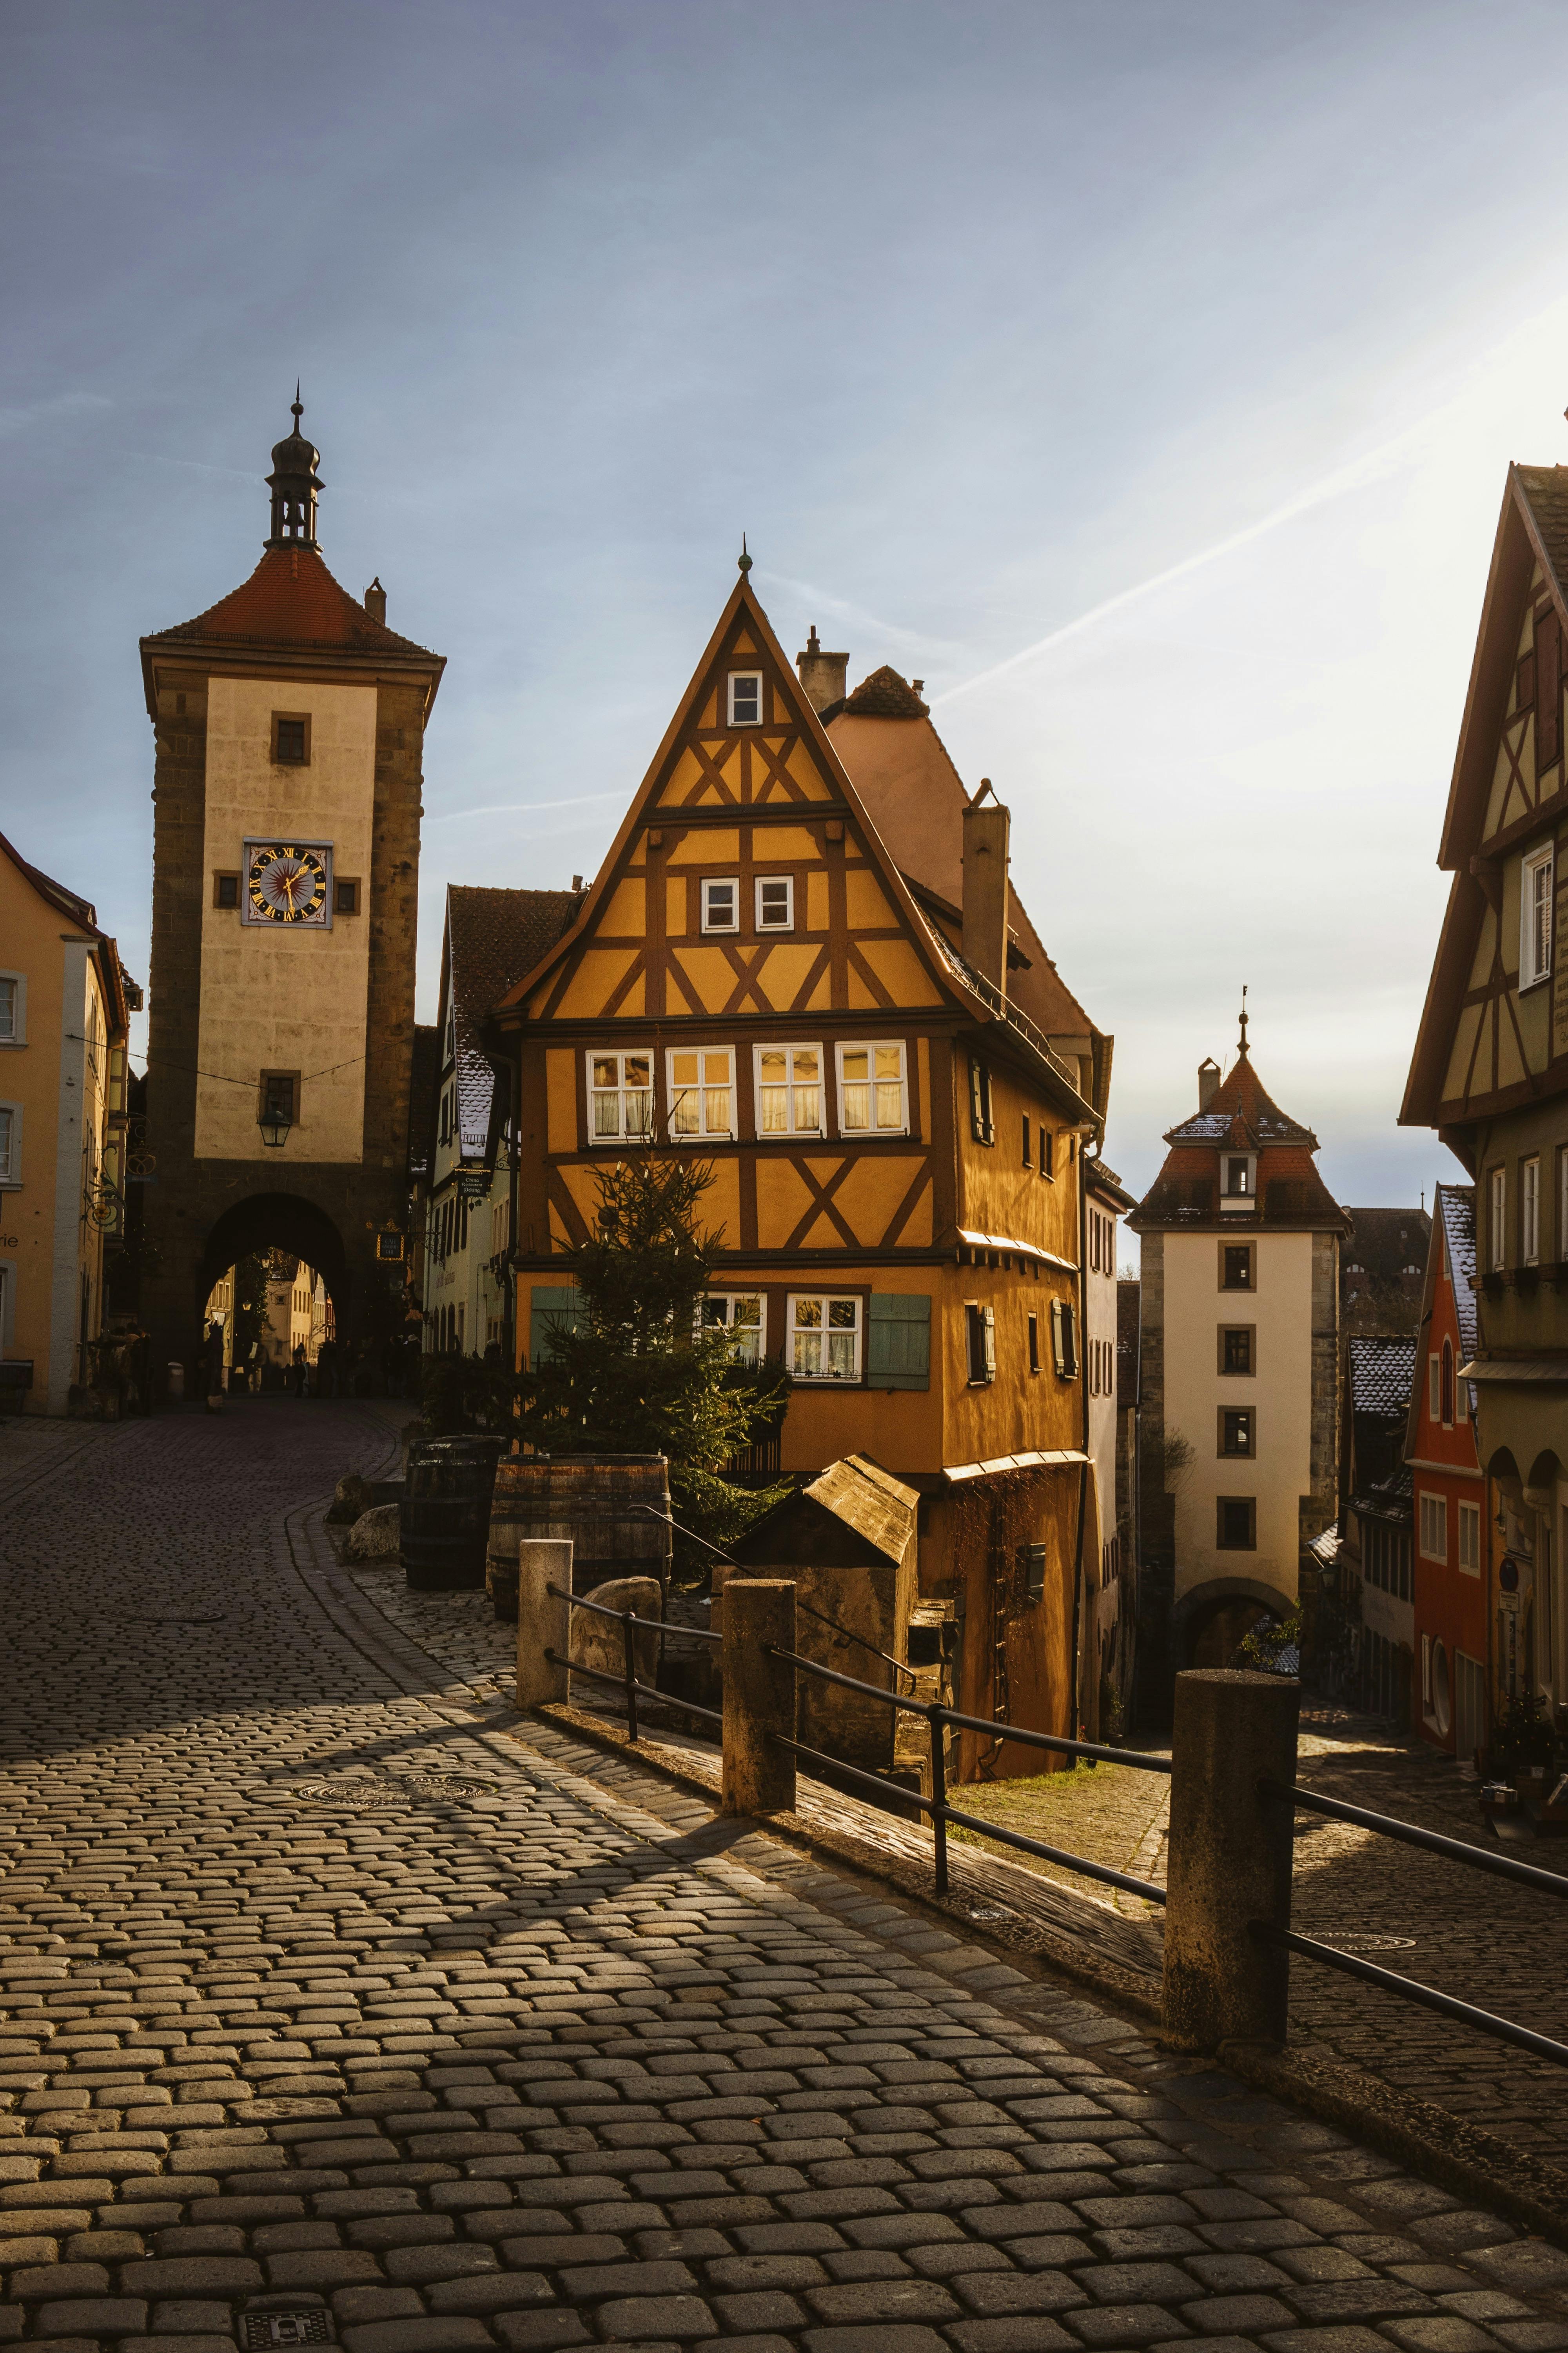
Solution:
<svg viewBox="0 0 1568 2353">
<path fill-rule="evenodd" d="M 0 2341 L 1568 2346 L 1568 2254 L 475 1713 L 320 1539 L 395 1414 L 0 1461 Z"/>
</svg>

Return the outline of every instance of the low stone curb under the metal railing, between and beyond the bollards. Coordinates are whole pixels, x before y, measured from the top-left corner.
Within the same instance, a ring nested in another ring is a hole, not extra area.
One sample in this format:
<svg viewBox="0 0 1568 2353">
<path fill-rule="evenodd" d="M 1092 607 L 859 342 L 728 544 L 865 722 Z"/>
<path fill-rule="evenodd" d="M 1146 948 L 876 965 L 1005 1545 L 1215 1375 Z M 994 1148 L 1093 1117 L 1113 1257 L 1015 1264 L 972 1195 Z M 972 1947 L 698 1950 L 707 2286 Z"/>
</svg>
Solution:
<svg viewBox="0 0 1568 2353">
<path fill-rule="evenodd" d="M 661 1779 L 679 1781 L 696 1795 L 715 1800 L 719 1793 L 717 1760 L 710 1765 L 708 1755 L 696 1748 L 675 1748 L 646 1734 L 632 1746 L 625 1732 L 602 1715 L 590 1715 L 585 1708 L 559 1701 L 536 1713 L 562 1732 L 571 1732 L 574 1739 L 609 1755 L 621 1755 L 628 1762 L 646 1765 Z M 976 1920 L 966 1904 L 943 1904 L 931 1889 L 929 1871 L 922 1873 L 917 1864 L 882 1840 L 856 1835 L 849 1814 L 839 1814 L 837 1807 L 818 1809 L 809 1802 L 792 1814 L 764 1814 L 759 1821 L 788 1845 L 830 1854 L 835 1861 L 896 1887 L 905 1901 L 917 1904 L 945 1927 L 961 1922 L 964 1934 L 973 1944 L 985 1944 L 1020 1967 L 1034 1965 L 1034 1974 L 1039 1974 L 1041 1965 L 1058 1969 L 1077 1984 L 1093 1988 L 1121 2012 L 1131 2012 L 1145 2024 L 1159 2024 L 1159 1981 L 1154 1977 L 1121 1969 L 1091 1944 L 1074 1944 L 1067 1934 L 1041 1927 L 1023 1915 L 1013 1915 L 1006 1922 Z M 976 1859 L 973 1847 L 959 1849 L 954 1845 L 947 1852 L 954 1864 L 964 1854 L 969 1871 L 987 1880 L 997 1901 L 1006 1904 L 1009 1911 L 1013 1897 L 1020 1894 L 1013 1882 L 1037 1880 L 1037 1873 L 1027 1873 L 1016 1864 L 994 1857 Z M 1067 1889 L 1058 1892 L 1067 1894 Z M 1084 1904 L 1081 1897 L 1072 1901 Z M 1091 1906 L 1084 1904 L 1084 1911 L 1091 1911 Z M 997 1998 L 992 1993 L 992 2000 Z M 1227 2042 L 1215 2057 L 1255 2089 L 1291 2101 L 1291 2106 L 1319 2118 L 1319 2122 L 1352 2132 L 1439 2188 L 1493 2207 L 1526 2231 L 1535 2231 L 1552 2245 L 1568 2249 L 1568 2174 L 1519 2148 L 1514 2141 L 1505 2141 L 1502 2134 L 1465 2125 L 1446 2108 L 1394 2092 L 1359 2068 L 1319 2059 L 1309 2045 L 1279 2052 L 1255 2042 Z"/>
</svg>

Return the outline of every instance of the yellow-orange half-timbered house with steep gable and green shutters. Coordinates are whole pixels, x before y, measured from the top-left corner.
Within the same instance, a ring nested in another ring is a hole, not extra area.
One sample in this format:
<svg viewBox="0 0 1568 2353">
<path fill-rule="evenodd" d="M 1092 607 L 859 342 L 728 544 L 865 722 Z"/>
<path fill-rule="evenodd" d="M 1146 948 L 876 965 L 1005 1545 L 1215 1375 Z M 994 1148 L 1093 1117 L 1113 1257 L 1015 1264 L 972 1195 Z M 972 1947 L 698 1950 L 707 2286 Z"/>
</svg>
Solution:
<svg viewBox="0 0 1568 2353">
<path fill-rule="evenodd" d="M 959 819 L 961 906 L 900 871 L 743 576 L 576 922 L 494 1016 L 517 1334 L 569 1308 L 595 1172 L 698 1153 L 708 1315 L 792 1377 L 780 1468 L 856 1452 L 917 1487 L 964 1706 L 1060 1729 L 1100 1558 L 1079 1235 L 1110 1040 L 1070 1059 L 1009 998 L 1009 816 L 980 793 Z M 997 1762 L 1039 1769 L 969 1758 Z"/>
</svg>

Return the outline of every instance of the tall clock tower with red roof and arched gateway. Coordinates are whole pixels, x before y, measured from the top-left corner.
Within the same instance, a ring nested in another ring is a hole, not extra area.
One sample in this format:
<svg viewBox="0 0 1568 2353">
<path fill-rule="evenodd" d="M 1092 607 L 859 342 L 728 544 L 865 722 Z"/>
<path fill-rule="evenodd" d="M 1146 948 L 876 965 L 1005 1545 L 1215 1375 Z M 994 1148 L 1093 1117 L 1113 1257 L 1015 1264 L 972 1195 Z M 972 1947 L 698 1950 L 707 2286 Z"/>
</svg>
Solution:
<svg viewBox="0 0 1568 2353">
<path fill-rule="evenodd" d="M 423 736 L 444 659 L 315 536 L 320 452 L 273 449 L 261 562 L 141 640 L 158 758 L 146 1271 L 153 1372 L 190 1367 L 235 1259 L 320 1268 L 339 1337 L 400 1318 Z M 393 1245 L 395 1249 L 395 1245 Z"/>
</svg>

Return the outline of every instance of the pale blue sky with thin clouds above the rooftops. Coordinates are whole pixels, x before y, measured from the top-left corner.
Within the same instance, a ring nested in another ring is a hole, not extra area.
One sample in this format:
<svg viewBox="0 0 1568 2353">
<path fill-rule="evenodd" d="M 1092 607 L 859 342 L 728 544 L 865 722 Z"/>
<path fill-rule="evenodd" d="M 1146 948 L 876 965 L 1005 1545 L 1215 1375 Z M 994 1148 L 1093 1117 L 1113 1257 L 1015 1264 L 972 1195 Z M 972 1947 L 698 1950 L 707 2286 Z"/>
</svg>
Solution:
<svg viewBox="0 0 1568 2353">
<path fill-rule="evenodd" d="M 1568 464 L 1568 9 L 0 0 L 0 831 L 146 976 L 136 640 L 322 553 L 449 656 L 449 882 L 590 875 L 733 586 L 926 680 L 1117 1038 L 1347 1202 L 1396 1122 L 1509 459 Z"/>
</svg>

